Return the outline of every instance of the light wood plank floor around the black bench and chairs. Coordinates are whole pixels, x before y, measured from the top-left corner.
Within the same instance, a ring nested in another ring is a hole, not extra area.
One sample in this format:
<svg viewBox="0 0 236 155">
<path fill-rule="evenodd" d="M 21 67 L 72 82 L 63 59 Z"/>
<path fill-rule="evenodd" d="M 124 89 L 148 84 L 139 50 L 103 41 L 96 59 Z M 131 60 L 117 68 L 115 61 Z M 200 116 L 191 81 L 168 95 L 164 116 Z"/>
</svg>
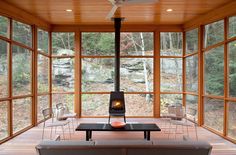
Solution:
<svg viewBox="0 0 236 155">
<path fill-rule="evenodd" d="M 107 119 L 100 118 L 83 118 L 79 119 L 78 122 L 106 122 Z M 155 122 L 161 129 L 161 132 L 151 132 L 151 139 L 168 139 L 168 134 L 165 127 L 166 120 L 154 119 L 154 118 L 128 118 L 128 122 L 142 122 L 142 123 L 153 123 Z M 185 130 L 185 128 L 184 128 Z M 196 139 L 195 130 L 190 127 L 190 138 Z M 176 135 L 176 139 L 183 139 L 182 128 L 179 127 L 179 133 Z M 182 132 L 182 133 L 181 133 Z M 46 129 L 45 138 L 49 138 L 50 129 Z M 57 134 L 60 134 L 61 130 L 58 129 Z M 186 134 L 186 130 L 184 131 Z M 34 127 L 27 132 L 15 137 L 12 140 L 0 145 L 0 155 L 36 155 L 35 146 L 41 141 L 42 136 L 42 124 Z M 236 155 L 236 145 L 224 140 L 223 138 L 198 127 L 198 137 L 201 140 L 207 140 L 213 146 L 212 155 Z M 66 138 L 69 138 L 68 130 L 66 131 Z M 143 139 L 142 132 L 93 132 L 93 139 Z M 74 132 L 72 133 L 72 139 L 84 140 L 85 132 Z M 169 135 L 169 139 L 175 139 L 174 134 Z"/>
</svg>

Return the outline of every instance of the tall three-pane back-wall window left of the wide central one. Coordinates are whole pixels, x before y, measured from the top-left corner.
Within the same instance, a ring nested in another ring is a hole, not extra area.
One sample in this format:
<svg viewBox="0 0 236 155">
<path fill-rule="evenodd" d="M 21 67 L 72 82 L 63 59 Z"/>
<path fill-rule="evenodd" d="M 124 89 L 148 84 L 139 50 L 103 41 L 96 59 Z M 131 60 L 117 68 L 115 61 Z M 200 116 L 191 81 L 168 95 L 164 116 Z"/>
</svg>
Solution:
<svg viewBox="0 0 236 155">
<path fill-rule="evenodd" d="M 63 103 L 74 109 L 74 58 L 73 32 L 52 33 L 52 106 Z"/>
</svg>

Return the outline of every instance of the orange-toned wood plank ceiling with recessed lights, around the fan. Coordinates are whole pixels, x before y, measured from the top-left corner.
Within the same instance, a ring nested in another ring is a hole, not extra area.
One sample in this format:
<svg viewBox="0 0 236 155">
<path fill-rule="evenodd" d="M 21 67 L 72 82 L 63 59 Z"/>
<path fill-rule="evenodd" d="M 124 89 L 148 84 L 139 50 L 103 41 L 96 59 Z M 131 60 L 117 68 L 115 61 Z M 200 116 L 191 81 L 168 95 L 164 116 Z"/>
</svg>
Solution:
<svg viewBox="0 0 236 155">
<path fill-rule="evenodd" d="M 116 16 L 124 24 L 183 24 L 233 0 L 159 0 L 156 4 L 122 6 Z M 5 2 L 50 24 L 111 25 L 105 17 L 112 5 L 108 0 L 5 0 Z M 167 12 L 167 9 L 173 9 Z M 72 9 L 72 12 L 66 12 Z"/>
</svg>

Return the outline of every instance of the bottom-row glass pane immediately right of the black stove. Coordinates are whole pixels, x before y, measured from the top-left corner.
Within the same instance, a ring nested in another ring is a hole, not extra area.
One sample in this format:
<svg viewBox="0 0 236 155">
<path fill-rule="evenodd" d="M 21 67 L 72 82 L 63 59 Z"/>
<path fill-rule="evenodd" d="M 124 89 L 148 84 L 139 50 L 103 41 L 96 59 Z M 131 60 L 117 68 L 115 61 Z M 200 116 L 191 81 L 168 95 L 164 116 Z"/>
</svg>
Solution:
<svg viewBox="0 0 236 155">
<path fill-rule="evenodd" d="M 152 94 L 125 94 L 126 116 L 153 116 Z"/>
</svg>

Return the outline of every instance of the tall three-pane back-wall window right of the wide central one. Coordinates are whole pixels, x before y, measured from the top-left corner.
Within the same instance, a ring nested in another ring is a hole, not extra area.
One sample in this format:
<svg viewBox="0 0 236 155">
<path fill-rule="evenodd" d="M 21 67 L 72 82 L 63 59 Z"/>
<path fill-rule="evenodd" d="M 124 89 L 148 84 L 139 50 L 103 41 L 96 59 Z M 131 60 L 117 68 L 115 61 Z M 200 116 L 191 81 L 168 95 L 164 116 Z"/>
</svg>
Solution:
<svg viewBox="0 0 236 155">
<path fill-rule="evenodd" d="M 182 105 L 183 36 L 182 32 L 160 33 L 161 115 L 170 105 Z"/>
</svg>

